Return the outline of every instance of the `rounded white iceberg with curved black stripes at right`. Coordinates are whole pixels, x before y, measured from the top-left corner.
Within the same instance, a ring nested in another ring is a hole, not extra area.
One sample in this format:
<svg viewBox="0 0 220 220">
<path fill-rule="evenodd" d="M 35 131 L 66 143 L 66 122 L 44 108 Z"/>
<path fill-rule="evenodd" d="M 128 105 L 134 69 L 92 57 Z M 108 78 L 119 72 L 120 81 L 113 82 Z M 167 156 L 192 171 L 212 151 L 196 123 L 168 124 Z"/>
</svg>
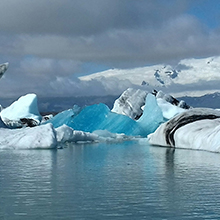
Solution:
<svg viewBox="0 0 220 220">
<path fill-rule="evenodd" d="M 220 152 L 220 111 L 185 111 L 160 125 L 148 140 L 152 145 Z"/>
</svg>

